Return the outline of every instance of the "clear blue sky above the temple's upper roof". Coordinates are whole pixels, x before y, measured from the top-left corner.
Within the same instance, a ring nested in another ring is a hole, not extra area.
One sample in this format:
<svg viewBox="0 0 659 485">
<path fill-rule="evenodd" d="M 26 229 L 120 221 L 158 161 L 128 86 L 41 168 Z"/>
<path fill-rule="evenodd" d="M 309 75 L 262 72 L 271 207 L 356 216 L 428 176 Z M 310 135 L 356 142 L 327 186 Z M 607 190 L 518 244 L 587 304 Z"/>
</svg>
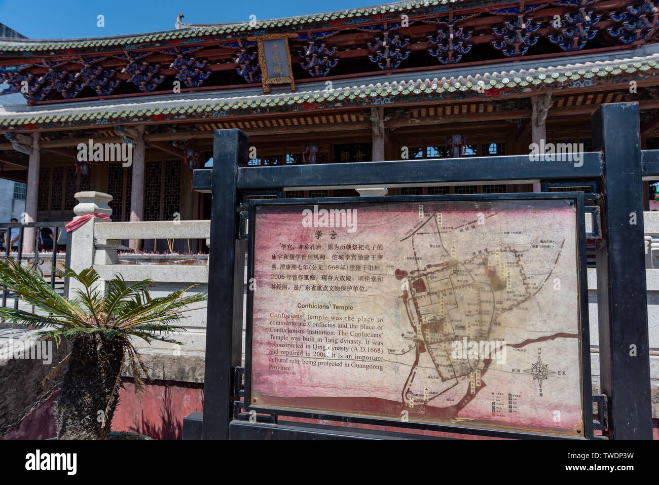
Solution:
<svg viewBox="0 0 659 485">
<path fill-rule="evenodd" d="M 377 4 L 376 0 L 0 0 L 0 22 L 32 39 L 71 39 L 170 30 L 179 12 L 185 15 L 184 22 L 200 24 L 248 22 L 252 14 L 265 20 Z M 100 14 L 105 16 L 102 28 L 97 26 Z"/>
</svg>

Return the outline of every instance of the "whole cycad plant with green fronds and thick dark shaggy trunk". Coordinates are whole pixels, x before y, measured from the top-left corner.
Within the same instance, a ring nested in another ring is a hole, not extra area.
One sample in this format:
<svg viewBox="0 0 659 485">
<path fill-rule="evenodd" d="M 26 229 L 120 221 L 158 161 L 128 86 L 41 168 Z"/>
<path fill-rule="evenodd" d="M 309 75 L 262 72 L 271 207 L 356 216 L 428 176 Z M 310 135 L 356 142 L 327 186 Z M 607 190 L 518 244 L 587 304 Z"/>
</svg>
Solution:
<svg viewBox="0 0 659 485">
<path fill-rule="evenodd" d="M 42 329 L 38 333 L 52 337 L 57 345 L 61 339 L 69 341 L 71 353 L 49 374 L 52 377 L 61 372 L 67 361 L 55 405 L 57 438 L 105 440 L 119 399 L 125 362 L 132 370 L 137 391 L 143 389 L 144 378 L 148 379 L 148 370 L 130 337 L 149 343 L 159 340 L 181 344 L 171 334 L 185 328 L 173 324 L 185 318 L 183 313 L 189 311 L 186 306 L 206 300 L 206 293 L 183 296 L 191 286 L 152 298 L 147 290 L 151 280 L 129 286 L 121 275 L 106 281 L 101 293 L 100 277 L 93 268 L 79 273 L 68 267 L 55 271 L 80 283 L 82 288 L 74 291 L 74 298 L 59 295 L 32 268 L 12 258 L 0 260 L 0 285 L 42 310 L 42 314 L 32 314 L 0 308 L 0 320 Z"/>
</svg>

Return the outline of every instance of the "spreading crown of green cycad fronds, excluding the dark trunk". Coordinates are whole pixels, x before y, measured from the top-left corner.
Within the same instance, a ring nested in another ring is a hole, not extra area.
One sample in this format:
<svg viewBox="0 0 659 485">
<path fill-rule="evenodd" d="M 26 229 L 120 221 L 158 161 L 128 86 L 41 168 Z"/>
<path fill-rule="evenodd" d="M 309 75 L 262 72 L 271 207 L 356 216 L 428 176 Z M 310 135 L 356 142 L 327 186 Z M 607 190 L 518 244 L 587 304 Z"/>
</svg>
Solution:
<svg viewBox="0 0 659 485">
<path fill-rule="evenodd" d="M 0 308 L 0 318 L 22 327 L 47 328 L 39 333 L 55 338 L 58 343 L 59 338 L 72 339 L 80 333 L 99 332 L 109 339 L 124 340 L 129 349 L 131 336 L 147 342 L 180 343 L 169 336 L 185 331 L 175 323 L 186 318 L 185 312 L 197 309 L 189 309 L 188 305 L 207 298 L 206 293 L 183 296 L 196 285 L 152 298 L 148 292 L 152 280 L 127 285 L 121 275 L 113 275 L 106 281 L 105 293 L 101 294 L 100 275 L 93 268 L 78 273 L 68 266 L 65 270 L 54 270 L 61 277 L 72 278 L 82 285 L 74 291 L 75 298 L 67 299 L 59 295 L 32 268 L 12 258 L 0 260 L 0 285 L 46 313 L 32 314 L 14 308 Z M 135 366 L 139 367 L 137 363 Z"/>
</svg>

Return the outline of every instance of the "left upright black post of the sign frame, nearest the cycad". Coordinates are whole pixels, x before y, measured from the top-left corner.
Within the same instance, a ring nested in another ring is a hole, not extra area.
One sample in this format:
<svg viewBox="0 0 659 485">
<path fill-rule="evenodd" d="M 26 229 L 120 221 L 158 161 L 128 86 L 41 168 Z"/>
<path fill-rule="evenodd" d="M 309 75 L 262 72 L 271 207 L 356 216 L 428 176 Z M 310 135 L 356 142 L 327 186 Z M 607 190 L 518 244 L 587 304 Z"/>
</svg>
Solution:
<svg viewBox="0 0 659 485">
<path fill-rule="evenodd" d="M 237 260 L 244 265 L 244 248 L 237 239 L 237 170 L 247 162 L 247 136 L 241 130 L 215 130 L 213 144 L 212 210 L 208 258 L 208 317 L 206 318 L 206 376 L 204 378 L 204 440 L 229 438 L 232 416 L 231 380 L 235 365 L 235 297 Z M 243 271 L 241 269 L 241 271 Z M 241 319 L 242 320 L 242 319 Z M 241 321 L 242 325 L 242 321 Z M 239 347 L 240 348 L 240 347 Z"/>
</svg>

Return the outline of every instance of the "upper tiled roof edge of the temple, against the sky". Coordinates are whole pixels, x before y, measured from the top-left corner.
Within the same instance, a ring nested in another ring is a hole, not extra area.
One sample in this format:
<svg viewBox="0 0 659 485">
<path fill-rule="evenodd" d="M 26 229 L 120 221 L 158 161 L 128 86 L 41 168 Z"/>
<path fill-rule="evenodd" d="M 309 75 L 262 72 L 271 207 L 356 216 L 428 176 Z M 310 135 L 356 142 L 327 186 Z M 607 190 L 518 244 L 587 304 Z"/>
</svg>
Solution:
<svg viewBox="0 0 659 485">
<path fill-rule="evenodd" d="M 391 14 L 396 12 L 409 11 L 412 9 L 424 9 L 425 7 L 436 7 L 440 5 L 449 5 L 451 3 L 467 3 L 470 0 L 423 0 L 423 1 L 399 1 L 387 3 L 386 5 L 375 5 L 373 7 L 364 7 L 361 9 L 348 9 L 337 12 L 301 15 L 295 17 L 275 18 L 272 20 L 256 20 L 250 22 L 234 22 L 226 24 L 183 24 L 184 28 L 177 30 L 165 30 L 163 32 L 151 32 L 148 34 L 134 34 L 129 36 L 113 36 L 104 38 L 84 38 L 84 39 L 65 39 L 65 40 L 30 40 L 30 39 L 11 39 L 0 38 L 0 51 L 48 51 L 62 49 L 79 49 L 82 47 L 111 47 L 124 46 L 136 43 L 154 42 L 158 40 L 194 40 L 198 36 L 213 36 L 234 34 L 244 32 L 245 34 L 254 34 L 254 31 L 289 27 L 291 30 L 299 30 L 304 24 L 316 22 L 332 22 L 335 20 L 347 19 L 343 24 L 361 23 L 362 21 L 372 21 L 376 19 L 366 19 L 366 16 L 377 14 Z M 436 9 L 437 13 L 446 9 Z M 431 12 L 432 13 L 432 12 Z M 353 20 L 353 22 L 351 22 Z M 206 39 L 199 39 L 201 42 Z"/>
</svg>

